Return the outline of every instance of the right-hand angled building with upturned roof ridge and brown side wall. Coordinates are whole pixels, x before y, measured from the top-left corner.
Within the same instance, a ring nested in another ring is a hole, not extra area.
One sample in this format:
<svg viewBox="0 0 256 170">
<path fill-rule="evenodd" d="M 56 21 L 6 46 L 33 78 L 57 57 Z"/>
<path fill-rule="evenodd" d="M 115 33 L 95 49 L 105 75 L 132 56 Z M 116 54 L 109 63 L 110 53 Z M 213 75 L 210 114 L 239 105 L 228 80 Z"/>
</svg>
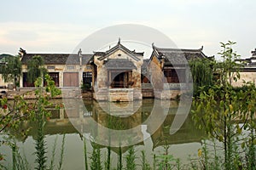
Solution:
<svg viewBox="0 0 256 170">
<path fill-rule="evenodd" d="M 207 58 L 202 49 L 157 48 L 148 62 L 150 82 L 154 87 L 154 97 L 174 99 L 177 94 L 185 93 L 192 86 L 189 59 Z"/>
</svg>

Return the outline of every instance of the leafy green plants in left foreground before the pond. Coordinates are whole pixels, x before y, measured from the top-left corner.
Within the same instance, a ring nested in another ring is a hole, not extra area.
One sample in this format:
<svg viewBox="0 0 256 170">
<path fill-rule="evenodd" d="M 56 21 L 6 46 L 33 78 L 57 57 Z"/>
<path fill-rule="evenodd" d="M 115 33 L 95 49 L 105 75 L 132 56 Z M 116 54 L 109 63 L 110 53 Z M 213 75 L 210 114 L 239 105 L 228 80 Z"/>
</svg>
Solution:
<svg viewBox="0 0 256 170">
<path fill-rule="evenodd" d="M 52 84 L 50 77 L 45 76 L 45 82 L 46 88 L 42 88 L 42 82 L 43 79 L 39 77 L 35 85 L 36 87 L 40 87 L 35 91 L 35 94 L 37 95 L 37 99 L 34 100 L 32 103 L 24 99 L 23 95 L 15 96 L 15 99 L 12 102 L 9 102 L 8 99 L 0 99 L 2 105 L 7 105 L 7 109 L 4 111 L 5 116 L 2 116 L 0 119 L 0 134 L 3 133 L 3 131 L 6 131 L 8 128 L 14 128 L 17 129 L 20 127 L 20 122 L 23 120 L 26 120 L 28 122 L 37 122 L 38 123 L 38 129 L 37 129 L 37 137 L 35 142 L 35 162 L 37 166 L 36 169 L 46 169 L 47 165 L 47 157 L 46 154 L 46 144 L 44 141 L 44 124 L 45 124 L 45 118 L 50 116 L 50 112 L 47 108 L 52 107 L 51 102 L 49 99 L 51 97 L 55 97 L 55 95 L 61 94 L 61 91 Z M 27 131 L 23 132 L 22 135 L 26 137 Z M 65 135 L 62 139 L 62 145 L 61 145 L 61 159 L 59 161 L 59 169 L 62 167 L 62 161 L 64 156 L 64 139 Z M 9 143 L 9 139 L 6 139 L 3 141 L 3 143 Z M 2 144 L 3 144 L 2 143 Z M 17 167 L 16 169 L 29 169 L 26 168 L 26 160 L 23 161 L 19 158 L 16 145 L 15 147 L 12 146 L 13 149 L 13 169 Z M 54 151 L 55 152 L 55 151 Z M 0 154 L 1 155 L 1 154 Z M 18 162 L 18 163 L 16 163 Z M 23 166 L 23 167 L 19 167 Z M 19 168 L 18 168 L 19 167 Z M 51 166 L 52 165 L 51 162 Z"/>
</svg>

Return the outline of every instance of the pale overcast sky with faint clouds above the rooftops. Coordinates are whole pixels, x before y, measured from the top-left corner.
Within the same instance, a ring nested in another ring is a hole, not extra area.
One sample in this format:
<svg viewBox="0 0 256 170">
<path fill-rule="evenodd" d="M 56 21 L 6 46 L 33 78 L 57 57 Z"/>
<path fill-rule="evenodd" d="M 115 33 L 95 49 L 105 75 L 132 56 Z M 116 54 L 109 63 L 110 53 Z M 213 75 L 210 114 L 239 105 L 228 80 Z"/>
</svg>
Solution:
<svg viewBox="0 0 256 170">
<path fill-rule="evenodd" d="M 8 0 L 1 2 L 0 54 L 72 53 L 107 26 L 150 26 L 178 48 L 216 55 L 219 42 L 237 42 L 242 58 L 256 48 L 255 0 Z M 157 46 L 157 44 L 155 44 Z"/>
</svg>

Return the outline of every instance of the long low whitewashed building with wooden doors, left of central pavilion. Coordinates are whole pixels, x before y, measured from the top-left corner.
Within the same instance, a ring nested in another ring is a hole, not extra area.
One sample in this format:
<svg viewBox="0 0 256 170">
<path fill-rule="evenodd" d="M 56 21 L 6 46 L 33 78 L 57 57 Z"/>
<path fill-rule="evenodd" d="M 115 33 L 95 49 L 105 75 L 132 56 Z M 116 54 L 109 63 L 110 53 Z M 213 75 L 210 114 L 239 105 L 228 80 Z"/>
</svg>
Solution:
<svg viewBox="0 0 256 170">
<path fill-rule="evenodd" d="M 44 67 L 49 76 L 59 88 L 78 88 L 81 84 L 91 84 L 92 72 L 89 64 L 92 54 L 27 54 L 20 50 L 22 63 L 22 75 L 20 88 L 34 87 L 32 82 L 27 81 L 27 64 L 32 57 L 39 55 L 44 59 Z"/>
</svg>

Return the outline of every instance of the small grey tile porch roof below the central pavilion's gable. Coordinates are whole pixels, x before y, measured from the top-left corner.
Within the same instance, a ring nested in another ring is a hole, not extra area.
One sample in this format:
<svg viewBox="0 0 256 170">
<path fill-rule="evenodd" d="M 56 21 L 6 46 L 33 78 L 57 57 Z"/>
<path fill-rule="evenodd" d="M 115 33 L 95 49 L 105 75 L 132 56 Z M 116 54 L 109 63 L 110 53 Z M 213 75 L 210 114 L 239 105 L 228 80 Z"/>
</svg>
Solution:
<svg viewBox="0 0 256 170">
<path fill-rule="evenodd" d="M 128 59 L 108 59 L 105 64 L 109 70 L 132 70 L 136 66 Z"/>
</svg>

